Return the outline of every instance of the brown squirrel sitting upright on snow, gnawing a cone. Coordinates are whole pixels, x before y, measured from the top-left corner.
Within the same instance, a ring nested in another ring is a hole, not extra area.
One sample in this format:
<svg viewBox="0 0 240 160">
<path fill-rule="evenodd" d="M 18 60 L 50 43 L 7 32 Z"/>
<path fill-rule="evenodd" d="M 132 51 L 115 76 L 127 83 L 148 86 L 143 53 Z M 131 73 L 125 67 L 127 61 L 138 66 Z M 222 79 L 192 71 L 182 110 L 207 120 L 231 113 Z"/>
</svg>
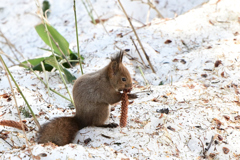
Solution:
<svg viewBox="0 0 240 160">
<path fill-rule="evenodd" d="M 110 127 L 105 124 L 109 118 L 109 105 L 121 100 L 120 91 L 132 88 L 129 71 L 122 64 L 124 51 L 121 50 L 104 68 L 80 76 L 73 85 L 73 100 L 76 114 L 72 117 L 58 117 L 45 123 L 38 131 L 38 143 L 52 142 L 58 146 L 71 143 L 77 132 L 87 126 Z M 137 98 L 128 94 L 129 99 Z"/>
</svg>

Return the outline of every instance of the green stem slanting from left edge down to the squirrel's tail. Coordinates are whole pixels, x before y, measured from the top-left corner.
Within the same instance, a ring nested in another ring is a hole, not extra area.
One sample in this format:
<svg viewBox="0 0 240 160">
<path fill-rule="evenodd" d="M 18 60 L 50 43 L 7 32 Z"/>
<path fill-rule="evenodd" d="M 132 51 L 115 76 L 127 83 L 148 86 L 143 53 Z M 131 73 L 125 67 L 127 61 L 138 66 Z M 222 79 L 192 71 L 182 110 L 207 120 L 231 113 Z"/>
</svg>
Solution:
<svg viewBox="0 0 240 160">
<path fill-rule="evenodd" d="M 12 76 L 11 72 L 9 71 L 7 65 L 6 65 L 5 62 L 3 61 L 1 55 L 0 55 L 0 59 L 1 59 L 1 61 L 2 61 L 2 64 L 4 65 L 4 67 L 6 68 L 8 74 L 10 75 L 12 81 L 14 82 L 15 86 L 17 87 L 18 92 L 21 94 L 22 98 L 24 99 L 25 103 L 27 104 L 28 109 L 30 110 L 30 112 L 31 112 L 31 114 L 32 114 L 32 116 L 33 116 L 33 120 L 34 120 L 34 122 L 36 123 L 37 127 L 40 129 L 40 124 L 39 124 L 39 122 L 38 122 L 38 120 L 37 120 L 37 118 L 36 118 L 34 112 L 32 111 L 32 108 L 30 107 L 30 105 L 29 105 L 27 99 L 26 99 L 25 96 L 23 95 L 23 93 L 22 93 L 21 89 L 19 88 L 17 82 L 16 82 L 15 79 L 13 78 L 13 76 Z"/>
</svg>

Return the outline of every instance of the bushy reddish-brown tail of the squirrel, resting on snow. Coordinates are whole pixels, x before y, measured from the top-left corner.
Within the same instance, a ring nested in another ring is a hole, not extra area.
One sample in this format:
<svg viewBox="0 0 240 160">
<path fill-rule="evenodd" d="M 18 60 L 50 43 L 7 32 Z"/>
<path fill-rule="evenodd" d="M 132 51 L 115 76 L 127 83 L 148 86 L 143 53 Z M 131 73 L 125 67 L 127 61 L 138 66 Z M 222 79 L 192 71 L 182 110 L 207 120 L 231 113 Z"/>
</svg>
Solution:
<svg viewBox="0 0 240 160">
<path fill-rule="evenodd" d="M 71 143 L 83 127 L 76 116 L 58 117 L 45 123 L 38 131 L 38 143 L 52 142 L 58 146 Z"/>
</svg>

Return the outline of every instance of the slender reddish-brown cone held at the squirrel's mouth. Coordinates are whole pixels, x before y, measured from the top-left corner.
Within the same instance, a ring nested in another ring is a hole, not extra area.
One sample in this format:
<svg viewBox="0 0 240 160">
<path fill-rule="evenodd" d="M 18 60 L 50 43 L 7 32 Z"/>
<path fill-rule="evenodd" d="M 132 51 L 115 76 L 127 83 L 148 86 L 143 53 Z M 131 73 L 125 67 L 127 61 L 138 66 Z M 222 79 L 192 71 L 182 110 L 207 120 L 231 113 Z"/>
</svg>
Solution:
<svg viewBox="0 0 240 160">
<path fill-rule="evenodd" d="M 125 127 L 127 125 L 127 114 L 128 114 L 128 90 L 124 90 L 122 94 L 122 106 L 121 106 L 121 118 L 120 127 Z"/>
</svg>

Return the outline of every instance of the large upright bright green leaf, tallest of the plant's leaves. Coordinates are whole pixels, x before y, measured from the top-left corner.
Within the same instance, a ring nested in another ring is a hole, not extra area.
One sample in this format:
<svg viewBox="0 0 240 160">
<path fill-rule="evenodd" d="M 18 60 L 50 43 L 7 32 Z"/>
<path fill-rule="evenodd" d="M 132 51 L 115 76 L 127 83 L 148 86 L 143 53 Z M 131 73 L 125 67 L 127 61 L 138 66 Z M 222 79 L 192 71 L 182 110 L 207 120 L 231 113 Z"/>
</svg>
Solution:
<svg viewBox="0 0 240 160">
<path fill-rule="evenodd" d="M 67 40 L 55 29 L 53 28 L 50 24 L 46 24 L 47 29 L 49 33 L 52 35 L 52 38 L 54 41 L 58 44 L 59 48 L 62 50 L 62 52 L 67 56 L 69 55 L 69 43 Z M 38 33 L 38 35 L 42 38 L 42 40 L 51 47 L 50 42 L 48 40 L 48 35 L 47 32 L 45 31 L 45 26 L 44 24 L 39 24 L 35 26 L 35 29 Z M 50 40 L 52 42 L 53 50 L 56 52 L 58 55 L 62 56 L 60 50 L 56 46 L 55 42 L 52 40 L 50 36 Z"/>
</svg>

